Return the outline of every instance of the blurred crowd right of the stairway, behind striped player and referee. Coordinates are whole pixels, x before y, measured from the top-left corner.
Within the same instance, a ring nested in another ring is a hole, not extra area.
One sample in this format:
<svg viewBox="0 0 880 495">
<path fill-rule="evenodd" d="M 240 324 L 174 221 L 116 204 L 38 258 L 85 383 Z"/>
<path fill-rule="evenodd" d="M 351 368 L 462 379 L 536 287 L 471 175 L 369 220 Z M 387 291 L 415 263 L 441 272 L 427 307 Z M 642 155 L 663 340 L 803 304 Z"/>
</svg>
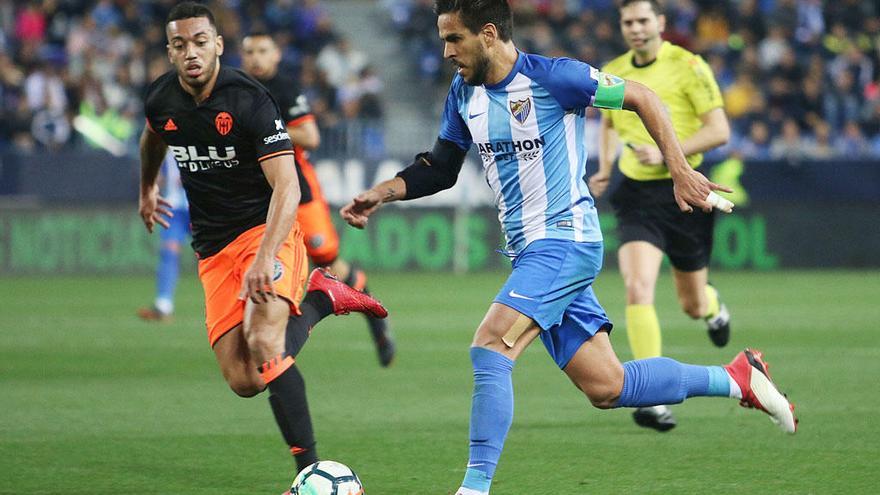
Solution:
<svg viewBox="0 0 880 495">
<path fill-rule="evenodd" d="M 880 156 L 880 7 L 868 0 L 666 0 L 664 37 L 703 57 L 752 159 Z M 627 48 L 614 0 L 511 0 L 520 49 L 601 67 Z M 410 63 L 448 84 L 432 0 L 390 0 Z M 594 155 L 595 156 L 595 155 Z"/>
</svg>

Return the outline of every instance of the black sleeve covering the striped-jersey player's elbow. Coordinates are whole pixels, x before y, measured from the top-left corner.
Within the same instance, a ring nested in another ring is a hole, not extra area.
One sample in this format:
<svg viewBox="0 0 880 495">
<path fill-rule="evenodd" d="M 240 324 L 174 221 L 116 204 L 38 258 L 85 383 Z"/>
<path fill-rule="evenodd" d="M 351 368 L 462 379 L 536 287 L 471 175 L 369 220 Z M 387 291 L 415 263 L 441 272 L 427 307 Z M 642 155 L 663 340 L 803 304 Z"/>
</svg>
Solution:
<svg viewBox="0 0 880 495">
<path fill-rule="evenodd" d="M 406 197 L 416 199 L 449 189 L 458 180 L 467 150 L 438 138 L 434 149 L 416 155 L 413 163 L 397 173 L 406 183 Z"/>
</svg>

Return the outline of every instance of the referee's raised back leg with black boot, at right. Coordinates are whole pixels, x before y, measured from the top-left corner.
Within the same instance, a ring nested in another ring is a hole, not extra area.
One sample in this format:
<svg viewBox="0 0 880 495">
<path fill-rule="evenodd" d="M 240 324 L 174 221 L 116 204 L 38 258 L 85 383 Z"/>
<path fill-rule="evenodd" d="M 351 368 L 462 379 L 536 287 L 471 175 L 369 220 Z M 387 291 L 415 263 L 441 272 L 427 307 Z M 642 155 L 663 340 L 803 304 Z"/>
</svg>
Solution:
<svg viewBox="0 0 880 495">
<path fill-rule="evenodd" d="M 709 270 L 685 272 L 673 268 L 672 274 L 682 310 L 691 318 L 705 320 L 712 343 L 726 346 L 730 341 L 730 312 L 718 290 L 708 283 Z"/>
</svg>

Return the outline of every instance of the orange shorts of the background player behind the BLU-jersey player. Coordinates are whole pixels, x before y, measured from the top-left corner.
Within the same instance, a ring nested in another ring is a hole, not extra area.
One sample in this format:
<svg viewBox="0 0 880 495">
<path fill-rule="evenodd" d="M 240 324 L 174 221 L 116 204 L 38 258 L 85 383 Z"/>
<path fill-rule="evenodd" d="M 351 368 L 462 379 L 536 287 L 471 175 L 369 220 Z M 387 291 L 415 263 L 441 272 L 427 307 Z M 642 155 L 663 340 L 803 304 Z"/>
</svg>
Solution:
<svg viewBox="0 0 880 495">
<path fill-rule="evenodd" d="M 306 251 L 316 265 L 329 265 L 339 256 L 339 235 L 330 219 L 330 207 L 321 194 L 321 185 L 315 168 L 307 160 L 300 161 L 300 168 L 312 190 L 312 200 L 299 205 L 296 220 L 303 229 Z"/>
</svg>

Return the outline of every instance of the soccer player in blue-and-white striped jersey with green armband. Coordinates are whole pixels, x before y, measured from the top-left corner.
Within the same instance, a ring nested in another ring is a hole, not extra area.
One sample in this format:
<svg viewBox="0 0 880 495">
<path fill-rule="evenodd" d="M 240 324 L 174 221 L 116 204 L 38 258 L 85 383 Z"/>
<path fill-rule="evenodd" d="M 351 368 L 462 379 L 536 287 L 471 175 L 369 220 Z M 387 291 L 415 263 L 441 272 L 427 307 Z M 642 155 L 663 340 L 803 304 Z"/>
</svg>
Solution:
<svg viewBox="0 0 880 495">
<path fill-rule="evenodd" d="M 592 283 L 602 235 L 584 183 L 584 108 L 636 112 L 660 148 L 682 211 L 710 210 L 709 182 L 685 160 L 658 97 L 645 86 L 570 59 L 518 51 L 506 0 L 436 0 L 444 57 L 458 67 L 440 136 L 397 177 L 358 195 L 340 213 L 366 226 L 380 206 L 452 187 L 475 146 L 513 258 L 513 271 L 477 328 L 470 458 L 458 495 L 489 493 L 513 420 L 511 371 L 540 337 L 556 364 L 602 409 L 672 404 L 695 396 L 740 399 L 794 433 L 793 406 L 746 349 L 727 366 L 661 357 L 621 364 L 611 322 Z"/>
</svg>

